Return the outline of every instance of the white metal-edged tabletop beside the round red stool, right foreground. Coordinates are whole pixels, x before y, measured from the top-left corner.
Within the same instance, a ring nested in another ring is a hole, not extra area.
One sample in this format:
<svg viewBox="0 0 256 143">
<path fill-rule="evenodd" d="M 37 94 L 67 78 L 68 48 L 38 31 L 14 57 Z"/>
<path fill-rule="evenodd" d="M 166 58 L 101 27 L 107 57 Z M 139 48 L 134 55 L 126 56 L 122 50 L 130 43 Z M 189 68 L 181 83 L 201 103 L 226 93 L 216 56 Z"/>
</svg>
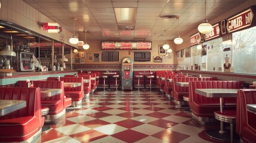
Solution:
<svg viewBox="0 0 256 143">
<path fill-rule="evenodd" d="M 196 94 L 204 97 L 236 97 L 238 89 L 196 89 Z"/>
</svg>

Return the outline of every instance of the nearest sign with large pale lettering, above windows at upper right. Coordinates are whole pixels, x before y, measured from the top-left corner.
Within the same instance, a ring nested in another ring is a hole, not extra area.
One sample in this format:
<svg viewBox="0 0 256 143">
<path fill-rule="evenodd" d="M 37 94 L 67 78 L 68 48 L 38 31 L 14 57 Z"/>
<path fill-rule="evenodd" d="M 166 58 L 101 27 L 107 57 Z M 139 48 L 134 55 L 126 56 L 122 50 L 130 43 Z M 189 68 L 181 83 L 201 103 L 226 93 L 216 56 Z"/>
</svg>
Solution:
<svg viewBox="0 0 256 143">
<path fill-rule="evenodd" d="M 245 27 L 251 26 L 254 14 L 252 10 L 255 7 L 251 7 L 248 10 L 243 11 L 233 17 L 227 19 L 227 31 L 235 32 L 237 30 L 243 29 Z"/>
</svg>

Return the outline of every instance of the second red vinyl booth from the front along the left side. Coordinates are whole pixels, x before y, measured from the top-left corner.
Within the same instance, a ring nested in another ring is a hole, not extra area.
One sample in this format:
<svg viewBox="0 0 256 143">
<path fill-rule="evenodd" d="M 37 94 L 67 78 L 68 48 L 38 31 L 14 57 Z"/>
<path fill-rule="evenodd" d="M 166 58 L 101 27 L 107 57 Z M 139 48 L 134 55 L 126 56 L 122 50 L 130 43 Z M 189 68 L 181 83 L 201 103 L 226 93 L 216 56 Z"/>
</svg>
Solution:
<svg viewBox="0 0 256 143">
<path fill-rule="evenodd" d="M 26 80 L 17 81 L 18 87 L 27 87 Z M 59 117 L 64 116 L 66 108 L 71 105 L 71 98 L 64 97 L 64 86 L 61 81 L 33 81 L 33 85 L 36 88 L 49 88 L 49 89 L 62 89 L 61 94 L 57 94 L 51 97 L 41 97 L 41 105 L 49 108 L 49 112 L 45 115 L 45 123 L 55 123 Z"/>
</svg>

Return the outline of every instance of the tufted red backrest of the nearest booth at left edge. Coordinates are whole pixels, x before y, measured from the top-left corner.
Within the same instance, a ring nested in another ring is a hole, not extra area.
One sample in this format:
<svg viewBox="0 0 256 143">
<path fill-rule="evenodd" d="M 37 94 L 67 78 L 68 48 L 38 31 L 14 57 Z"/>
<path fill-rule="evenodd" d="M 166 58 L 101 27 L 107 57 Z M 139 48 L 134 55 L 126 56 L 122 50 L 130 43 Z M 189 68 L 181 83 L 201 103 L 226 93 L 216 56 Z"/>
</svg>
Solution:
<svg viewBox="0 0 256 143">
<path fill-rule="evenodd" d="M 40 88 L 17 88 L 0 87 L 0 100 L 24 100 L 26 107 L 14 111 L 5 116 L 25 117 L 36 116 L 41 122 L 41 89 Z M 4 117 L 4 116 L 2 116 Z M 1 119 L 1 117 L 0 117 Z"/>
</svg>

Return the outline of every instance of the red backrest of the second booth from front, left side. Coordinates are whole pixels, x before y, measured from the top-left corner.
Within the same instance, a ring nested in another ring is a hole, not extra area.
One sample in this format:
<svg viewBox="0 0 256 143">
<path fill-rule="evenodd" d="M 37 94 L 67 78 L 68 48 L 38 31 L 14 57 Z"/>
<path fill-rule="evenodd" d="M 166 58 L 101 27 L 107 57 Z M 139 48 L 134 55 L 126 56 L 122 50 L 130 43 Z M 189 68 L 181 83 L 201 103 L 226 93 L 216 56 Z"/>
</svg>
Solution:
<svg viewBox="0 0 256 143">
<path fill-rule="evenodd" d="M 18 87 L 27 87 L 26 80 L 18 80 L 16 82 Z M 47 80 L 36 80 L 33 81 L 33 85 L 35 88 L 49 88 L 49 89 L 62 89 L 62 93 L 58 95 L 54 95 L 51 97 L 41 97 L 42 101 L 45 100 L 60 100 L 64 102 L 64 85 L 61 81 L 47 81 Z"/>
</svg>

